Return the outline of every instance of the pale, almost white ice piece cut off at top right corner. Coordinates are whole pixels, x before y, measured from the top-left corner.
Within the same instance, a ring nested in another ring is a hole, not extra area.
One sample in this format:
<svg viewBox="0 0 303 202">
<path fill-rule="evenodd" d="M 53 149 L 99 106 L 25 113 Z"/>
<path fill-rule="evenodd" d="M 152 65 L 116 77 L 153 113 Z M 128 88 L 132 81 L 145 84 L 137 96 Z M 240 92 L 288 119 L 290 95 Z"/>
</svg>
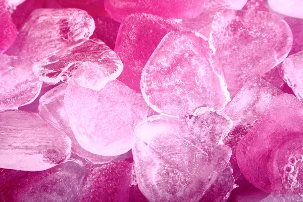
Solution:
<svg viewBox="0 0 303 202">
<path fill-rule="evenodd" d="M 303 18 L 303 2 L 301 0 L 268 0 L 272 10 L 286 16 Z"/>
</svg>

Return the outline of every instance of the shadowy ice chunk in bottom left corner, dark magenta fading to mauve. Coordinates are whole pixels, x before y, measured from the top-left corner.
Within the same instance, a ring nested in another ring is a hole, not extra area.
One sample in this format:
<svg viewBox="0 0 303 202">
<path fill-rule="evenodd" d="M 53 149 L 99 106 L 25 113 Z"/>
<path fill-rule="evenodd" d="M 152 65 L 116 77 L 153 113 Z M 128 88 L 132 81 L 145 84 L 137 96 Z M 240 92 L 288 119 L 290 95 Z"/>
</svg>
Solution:
<svg viewBox="0 0 303 202">
<path fill-rule="evenodd" d="M 88 174 L 84 167 L 69 161 L 45 171 L 24 172 L 23 176 L 2 183 L 0 190 L 4 201 L 80 201 Z"/>
</svg>

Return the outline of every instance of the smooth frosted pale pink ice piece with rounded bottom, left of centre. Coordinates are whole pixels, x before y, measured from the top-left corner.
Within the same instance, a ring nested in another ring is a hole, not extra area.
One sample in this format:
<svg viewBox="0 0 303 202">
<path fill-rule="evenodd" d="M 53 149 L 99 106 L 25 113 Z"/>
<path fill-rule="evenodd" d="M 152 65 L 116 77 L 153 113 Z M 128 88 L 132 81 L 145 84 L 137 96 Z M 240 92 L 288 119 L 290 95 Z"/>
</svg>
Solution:
<svg viewBox="0 0 303 202">
<path fill-rule="evenodd" d="M 70 84 L 64 105 L 79 144 L 103 156 L 126 153 L 135 126 L 148 113 L 142 96 L 117 80 L 100 91 Z"/>
</svg>

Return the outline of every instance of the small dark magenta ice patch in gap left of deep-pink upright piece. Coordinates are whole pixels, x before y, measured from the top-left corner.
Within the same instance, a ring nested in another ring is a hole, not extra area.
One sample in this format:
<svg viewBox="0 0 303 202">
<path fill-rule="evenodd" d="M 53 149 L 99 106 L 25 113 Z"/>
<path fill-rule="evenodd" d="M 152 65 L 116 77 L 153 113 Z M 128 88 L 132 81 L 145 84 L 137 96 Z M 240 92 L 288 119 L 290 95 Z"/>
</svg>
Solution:
<svg viewBox="0 0 303 202">
<path fill-rule="evenodd" d="M 95 30 L 92 36 L 105 42 L 112 50 L 115 48 L 120 23 L 109 17 L 94 17 Z"/>
</svg>

